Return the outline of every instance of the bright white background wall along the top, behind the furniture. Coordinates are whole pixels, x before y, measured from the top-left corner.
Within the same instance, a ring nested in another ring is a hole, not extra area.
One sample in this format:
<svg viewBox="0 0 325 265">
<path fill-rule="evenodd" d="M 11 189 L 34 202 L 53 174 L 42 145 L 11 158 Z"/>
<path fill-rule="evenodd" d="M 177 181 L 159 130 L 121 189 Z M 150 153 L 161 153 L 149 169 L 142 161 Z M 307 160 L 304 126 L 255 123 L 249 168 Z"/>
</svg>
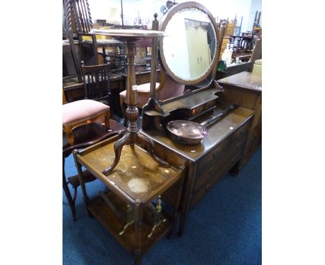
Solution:
<svg viewBox="0 0 325 265">
<path fill-rule="evenodd" d="M 106 19 L 109 23 L 122 24 L 120 18 L 121 1 L 120 0 L 88 0 L 90 11 L 92 12 L 93 22 L 95 19 Z M 262 0 L 227 0 L 211 1 L 197 0 L 203 6 L 206 6 L 213 16 L 219 19 L 234 19 L 237 15 L 238 20 L 242 20 L 242 32 L 251 31 L 256 11 L 262 11 Z M 177 3 L 183 3 L 185 0 L 178 0 Z M 160 8 L 166 5 L 163 0 L 123 0 L 124 24 L 133 25 L 142 19 L 142 24 L 151 27 L 153 13 L 157 12 L 158 20 L 163 17 Z"/>
</svg>

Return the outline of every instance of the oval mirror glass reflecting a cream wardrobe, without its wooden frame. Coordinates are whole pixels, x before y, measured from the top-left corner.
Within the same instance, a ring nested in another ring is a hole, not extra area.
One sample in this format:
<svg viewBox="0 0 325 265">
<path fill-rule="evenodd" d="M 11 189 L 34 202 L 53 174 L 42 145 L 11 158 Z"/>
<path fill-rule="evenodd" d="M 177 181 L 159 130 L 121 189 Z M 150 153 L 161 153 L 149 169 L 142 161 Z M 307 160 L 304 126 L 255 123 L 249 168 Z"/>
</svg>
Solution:
<svg viewBox="0 0 325 265">
<path fill-rule="evenodd" d="M 198 8 L 176 12 L 165 28 L 163 57 L 177 78 L 194 81 L 212 67 L 216 33 L 208 15 Z"/>
</svg>

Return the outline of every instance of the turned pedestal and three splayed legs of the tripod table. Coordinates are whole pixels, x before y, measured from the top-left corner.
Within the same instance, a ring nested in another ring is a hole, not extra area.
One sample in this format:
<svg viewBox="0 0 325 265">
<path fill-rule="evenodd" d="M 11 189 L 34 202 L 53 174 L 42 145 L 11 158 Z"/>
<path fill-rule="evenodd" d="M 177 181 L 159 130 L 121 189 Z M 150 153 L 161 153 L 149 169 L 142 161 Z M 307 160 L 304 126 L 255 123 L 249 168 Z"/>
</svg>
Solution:
<svg viewBox="0 0 325 265">
<path fill-rule="evenodd" d="M 115 160 L 112 165 L 108 166 L 103 171 L 104 175 L 108 175 L 115 169 L 115 166 L 119 163 L 119 159 L 121 157 L 121 152 L 123 146 L 126 144 L 130 144 L 133 146 L 134 144 L 141 144 L 144 145 L 153 158 L 160 166 L 169 167 L 169 163 L 161 160 L 155 153 L 153 152 L 153 140 L 147 136 L 142 135 L 138 129 L 138 116 L 139 110 L 137 108 L 138 103 L 138 93 L 137 93 L 137 85 L 135 83 L 135 65 L 134 65 L 134 57 L 136 55 L 136 46 L 137 42 L 132 37 L 127 38 L 124 42 L 125 50 L 126 50 L 126 58 L 128 62 L 127 67 L 127 79 L 126 79 L 126 119 L 129 121 L 128 128 L 126 128 L 125 135 L 120 138 L 114 144 L 114 151 L 115 151 Z M 158 49 L 157 42 L 153 43 L 152 50 Z M 151 75 L 153 71 L 156 71 L 156 67 L 153 69 L 151 68 Z M 155 82 L 156 80 L 151 79 L 151 82 Z M 152 85 L 152 84 L 151 84 Z"/>
</svg>

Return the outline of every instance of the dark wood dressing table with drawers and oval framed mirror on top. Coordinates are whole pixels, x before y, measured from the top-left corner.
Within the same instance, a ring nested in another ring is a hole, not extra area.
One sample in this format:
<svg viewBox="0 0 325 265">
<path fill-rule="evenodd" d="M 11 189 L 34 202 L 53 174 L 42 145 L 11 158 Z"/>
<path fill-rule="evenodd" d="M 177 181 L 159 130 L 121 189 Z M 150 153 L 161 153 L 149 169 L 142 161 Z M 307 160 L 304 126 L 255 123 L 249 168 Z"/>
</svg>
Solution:
<svg viewBox="0 0 325 265">
<path fill-rule="evenodd" d="M 199 3 L 188 2 L 180 3 L 174 6 L 165 15 L 165 19 L 160 23 L 160 31 L 165 31 L 168 25 L 168 19 L 172 20 L 174 14 L 179 12 L 202 12 L 208 15 L 210 26 L 214 28 L 217 45 L 220 45 L 220 34 L 215 30 L 215 19 L 206 8 Z M 190 13 L 189 13 L 190 15 Z M 170 28 L 169 28 L 170 29 Z M 166 32 L 167 34 L 167 32 Z M 172 34 L 170 31 L 168 34 Z M 179 33 L 177 33 L 179 34 Z M 213 35 L 213 34 L 212 34 Z M 178 40 L 175 38 L 175 40 Z M 177 45 L 175 41 L 174 46 Z M 189 45 L 189 44 L 188 44 Z M 207 71 L 202 71 L 201 76 L 192 76 L 184 81 L 182 76 L 175 77 L 177 73 L 171 74 L 172 67 L 166 67 L 168 63 L 164 58 L 169 58 L 173 45 L 167 47 L 160 40 L 160 58 L 162 65 L 166 69 L 167 74 L 178 83 L 185 85 L 196 86 L 203 82 L 207 76 L 215 77 L 217 72 L 217 61 L 219 58 L 219 46 L 215 48 L 215 58 L 212 60 Z M 165 49 L 167 48 L 167 49 Z M 169 49 L 168 49 L 169 48 Z M 163 56 L 161 53 L 167 53 Z M 169 54 L 168 54 L 169 52 Z M 211 51 L 213 54 L 213 51 Z M 174 55 L 174 54 L 173 54 Z M 169 60 L 172 63 L 172 60 Z M 199 89 L 185 92 L 182 96 L 174 99 L 168 99 L 159 103 L 159 109 L 156 105 L 144 106 L 142 112 L 142 134 L 153 139 L 154 151 L 158 157 L 169 162 L 174 166 L 184 165 L 185 184 L 181 197 L 181 220 L 179 223 L 179 234 L 185 230 L 185 223 L 190 213 L 190 209 L 197 205 L 199 200 L 210 191 L 217 181 L 224 174 L 238 164 L 242 159 L 244 146 L 249 134 L 249 128 L 253 120 L 254 111 L 245 108 L 243 105 L 236 108 L 232 112 L 226 114 L 222 119 L 208 126 L 208 136 L 203 138 L 201 144 L 188 146 L 174 142 L 166 130 L 166 125 L 169 121 L 174 120 L 190 120 L 201 123 L 214 117 L 215 114 L 226 110 L 231 103 L 222 103 L 219 99 L 222 97 L 223 89 L 220 87 L 214 78 L 208 80 L 208 83 Z M 168 202 L 176 200 L 173 196 L 176 190 L 170 189 L 163 198 Z"/>
</svg>

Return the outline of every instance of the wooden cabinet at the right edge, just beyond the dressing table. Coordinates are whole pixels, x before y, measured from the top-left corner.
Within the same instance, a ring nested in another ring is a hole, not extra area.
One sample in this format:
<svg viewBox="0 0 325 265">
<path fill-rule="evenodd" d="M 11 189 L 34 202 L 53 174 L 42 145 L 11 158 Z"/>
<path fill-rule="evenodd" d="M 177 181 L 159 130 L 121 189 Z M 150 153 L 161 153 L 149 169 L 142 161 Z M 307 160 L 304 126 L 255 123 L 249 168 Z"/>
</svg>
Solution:
<svg viewBox="0 0 325 265">
<path fill-rule="evenodd" d="M 233 171 L 238 173 L 262 141 L 262 76 L 244 71 L 222 78 L 218 80 L 218 83 L 224 88 L 224 93 L 220 94 L 222 101 L 235 101 L 242 107 L 255 112 L 244 153 Z"/>
</svg>

